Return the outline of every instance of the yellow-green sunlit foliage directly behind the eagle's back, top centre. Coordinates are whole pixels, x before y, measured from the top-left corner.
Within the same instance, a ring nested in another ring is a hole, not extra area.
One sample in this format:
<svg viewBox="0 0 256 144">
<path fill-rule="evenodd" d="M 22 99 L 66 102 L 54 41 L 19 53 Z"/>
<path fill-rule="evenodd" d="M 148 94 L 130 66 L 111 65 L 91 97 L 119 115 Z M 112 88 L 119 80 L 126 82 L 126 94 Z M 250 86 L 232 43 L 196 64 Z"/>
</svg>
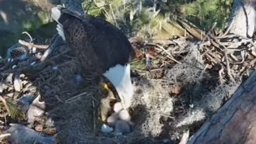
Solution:
<svg viewBox="0 0 256 144">
<path fill-rule="evenodd" d="M 84 2 L 84 9 L 91 15 L 101 17 L 134 36 L 140 33 L 150 37 L 161 29 L 169 15 L 154 10 L 148 0 L 92 0 Z M 138 33 L 139 32 L 139 33 Z"/>
</svg>

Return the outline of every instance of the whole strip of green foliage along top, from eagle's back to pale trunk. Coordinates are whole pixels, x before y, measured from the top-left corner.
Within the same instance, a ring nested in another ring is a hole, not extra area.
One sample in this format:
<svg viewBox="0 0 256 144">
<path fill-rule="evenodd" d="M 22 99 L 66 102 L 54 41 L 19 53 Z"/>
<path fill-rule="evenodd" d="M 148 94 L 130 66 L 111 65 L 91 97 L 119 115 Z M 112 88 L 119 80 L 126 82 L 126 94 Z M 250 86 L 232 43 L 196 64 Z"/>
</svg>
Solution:
<svg viewBox="0 0 256 144">
<path fill-rule="evenodd" d="M 228 22 L 233 0 L 86 0 L 84 9 L 121 28 L 130 36 L 151 37 L 172 15 L 181 15 L 199 28 L 209 30 L 217 22 L 222 30 Z M 158 11 L 161 10 L 161 11 Z"/>
</svg>

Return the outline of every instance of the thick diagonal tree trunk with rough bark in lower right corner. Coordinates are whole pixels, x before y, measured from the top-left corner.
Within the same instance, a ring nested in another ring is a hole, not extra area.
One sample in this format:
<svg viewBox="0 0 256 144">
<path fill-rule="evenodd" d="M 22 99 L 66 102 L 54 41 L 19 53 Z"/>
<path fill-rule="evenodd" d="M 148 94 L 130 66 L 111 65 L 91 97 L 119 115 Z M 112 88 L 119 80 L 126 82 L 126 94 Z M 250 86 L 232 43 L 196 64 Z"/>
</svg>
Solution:
<svg viewBox="0 0 256 144">
<path fill-rule="evenodd" d="M 189 140 L 188 144 L 256 143 L 256 71 Z"/>
</svg>

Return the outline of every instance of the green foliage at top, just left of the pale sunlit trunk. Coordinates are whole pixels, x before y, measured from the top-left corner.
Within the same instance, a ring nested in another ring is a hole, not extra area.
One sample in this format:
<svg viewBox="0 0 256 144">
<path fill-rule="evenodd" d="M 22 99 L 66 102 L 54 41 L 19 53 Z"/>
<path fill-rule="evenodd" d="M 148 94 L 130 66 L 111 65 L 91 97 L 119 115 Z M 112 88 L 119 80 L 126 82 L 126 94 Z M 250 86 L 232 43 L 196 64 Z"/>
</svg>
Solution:
<svg viewBox="0 0 256 144">
<path fill-rule="evenodd" d="M 231 14 L 233 0 L 197 0 L 184 4 L 184 16 L 202 29 L 209 30 L 214 22 L 223 30 Z"/>
</svg>

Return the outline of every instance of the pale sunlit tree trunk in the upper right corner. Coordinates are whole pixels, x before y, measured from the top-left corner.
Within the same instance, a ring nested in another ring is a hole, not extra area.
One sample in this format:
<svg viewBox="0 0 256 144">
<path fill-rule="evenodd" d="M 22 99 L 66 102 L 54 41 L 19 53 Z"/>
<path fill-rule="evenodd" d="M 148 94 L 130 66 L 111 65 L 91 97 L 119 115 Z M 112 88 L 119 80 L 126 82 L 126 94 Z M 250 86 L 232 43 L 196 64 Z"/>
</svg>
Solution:
<svg viewBox="0 0 256 144">
<path fill-rule="evenodd" d="M 252 37 L 256 26 L 256 0 L 234 0 L 230 33 Z"/>
</svg>

